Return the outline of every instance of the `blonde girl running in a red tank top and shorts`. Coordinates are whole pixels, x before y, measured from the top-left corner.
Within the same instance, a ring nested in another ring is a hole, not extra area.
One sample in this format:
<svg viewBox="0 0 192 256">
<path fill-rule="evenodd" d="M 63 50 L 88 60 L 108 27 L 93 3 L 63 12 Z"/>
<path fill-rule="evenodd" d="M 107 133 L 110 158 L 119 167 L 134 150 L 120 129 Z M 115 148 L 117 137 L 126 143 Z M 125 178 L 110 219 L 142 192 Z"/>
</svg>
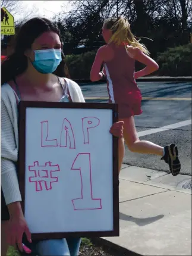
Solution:
<svg viewBox="0 0 192 256">
<path fill-rule="evenodd" d="M 141 92 L 135 79 L 158 70 L 158 64 L 148 56 L 149 51 L 131 33 L 126 18 L 106 19 L 102 35 L 106 45 L 97 51 L 90 79 L 93 82 L 98 81 L 106 74 L 109 102 L 118 103 L 119 120 L 124 121 L 124 140 L 130 151 L 160 155 L 169 164 L 172 175 L 176 176 L 181 169 L 177 146 L 171 144 L 163 148 L 149 141 L 140 141 L 134 123 L 134 115 L 142 113 Z M 135 61 L 145 64 L 146 67 L 135 73 Z M 100 72 L 102 65 L 105 74 Z M 123 157 L 122 144 L 119 146 L 119 162 Z"/>
</svg>

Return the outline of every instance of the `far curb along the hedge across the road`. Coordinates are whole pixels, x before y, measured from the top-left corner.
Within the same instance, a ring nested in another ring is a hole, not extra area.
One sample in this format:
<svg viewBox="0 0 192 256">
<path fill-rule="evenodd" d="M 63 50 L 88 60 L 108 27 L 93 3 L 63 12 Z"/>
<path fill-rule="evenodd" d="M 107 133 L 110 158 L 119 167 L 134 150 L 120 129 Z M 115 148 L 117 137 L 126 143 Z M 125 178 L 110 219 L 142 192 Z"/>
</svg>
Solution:
<svg viewBox="0 0 192 256">
<path fill-rule="evenodd" d="M 105 79 L 101 79 L 97 82 L 92 82 L 90 79 L 73 79 L 76 83 L 92 83 L 93 85 L 97 83 L 106 83 Z M 150 77 L 140 77 L 136 82 L 192 82 L 192 77 L 190 76 L 150 76 Z M 83 85 L 81 85 L 83 86 Z"/>
</svg>

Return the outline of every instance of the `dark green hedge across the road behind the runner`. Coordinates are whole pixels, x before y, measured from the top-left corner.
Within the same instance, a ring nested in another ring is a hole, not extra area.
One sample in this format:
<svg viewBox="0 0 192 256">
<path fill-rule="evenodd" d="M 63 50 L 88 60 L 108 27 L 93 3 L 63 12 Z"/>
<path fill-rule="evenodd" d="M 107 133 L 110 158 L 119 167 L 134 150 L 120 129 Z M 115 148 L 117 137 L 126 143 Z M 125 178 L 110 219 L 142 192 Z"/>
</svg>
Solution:
<svg viewBox="0 0 192 256">
<path fill-rule="evenodd" d="M 96 51 L 65 57 L 71 79 L 89 79 L 90 70 L 95 60 Z M 153 58 L 153 57 L 152 57 Z M 149 76 L 191 76 L 192 43 L 169 48 L 159 53 L 157 63 L 159 70 Z M 136 71 L 144 65 L 136 62 Z"/>
</svg>

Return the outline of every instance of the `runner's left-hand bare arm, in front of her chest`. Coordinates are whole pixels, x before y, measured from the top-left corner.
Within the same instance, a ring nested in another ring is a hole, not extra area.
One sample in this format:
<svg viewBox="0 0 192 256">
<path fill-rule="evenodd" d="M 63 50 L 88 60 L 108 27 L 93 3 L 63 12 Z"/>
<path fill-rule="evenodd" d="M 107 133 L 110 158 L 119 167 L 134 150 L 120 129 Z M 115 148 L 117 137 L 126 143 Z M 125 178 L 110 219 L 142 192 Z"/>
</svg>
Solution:
<svg viewBox="0 0 192 256">
<path fill-rule="evenodd" d="M 97 51 L 95 61 L 92 65 L 92 70 L 90 71 L 90 80 L 92 82 L 99 81 L 103 78 L 103 74 L 100 72 L 100 68 L 103 64 L 103 48 L 100 47 Z"/>
</svg>

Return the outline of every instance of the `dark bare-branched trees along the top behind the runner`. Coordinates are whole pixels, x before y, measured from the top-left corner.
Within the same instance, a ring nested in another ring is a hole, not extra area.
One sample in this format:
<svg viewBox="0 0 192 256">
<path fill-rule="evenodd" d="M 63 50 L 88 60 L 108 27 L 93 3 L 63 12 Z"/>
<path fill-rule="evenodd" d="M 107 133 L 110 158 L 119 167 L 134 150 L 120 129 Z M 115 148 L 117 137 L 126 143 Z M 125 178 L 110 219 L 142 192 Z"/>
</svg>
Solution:
<svg viewBox="0 0 192 256">
<path fill-rule="evenodd" d="M 137 37 L 141 37 L 155 57 L 168 47 L 189 42 L 192 0 L 81 0 L 73 10 L 60 14 L 65 28 L 65 43 L 74 50 L 85 45 L 97 49 L 103 45 L 101 28 L 107 17 L 124 15 Z M 145 38 L 144 38 L 145 37 Z M 153 42 L 149 39 L 153 40 Z"/>
</svg>

